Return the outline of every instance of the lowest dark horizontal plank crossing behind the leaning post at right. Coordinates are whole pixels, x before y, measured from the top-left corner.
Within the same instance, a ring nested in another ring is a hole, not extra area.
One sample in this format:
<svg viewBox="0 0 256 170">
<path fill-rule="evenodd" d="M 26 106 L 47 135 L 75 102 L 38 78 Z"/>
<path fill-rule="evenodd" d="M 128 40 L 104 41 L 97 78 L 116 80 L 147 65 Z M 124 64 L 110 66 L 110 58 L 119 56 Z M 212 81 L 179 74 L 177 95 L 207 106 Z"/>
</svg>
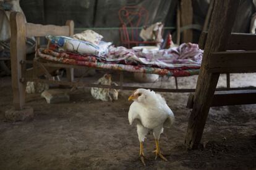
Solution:
<svg viewBox="0 0 256 170">
<path fill-rule="evenodd" d="M 228 105 L 250 105 L 256 103 L 256 90 L 216 91 L 211 107 Z M 194 94 L 189 94 L 187 108 L 193 108 Z"/>
</svg>

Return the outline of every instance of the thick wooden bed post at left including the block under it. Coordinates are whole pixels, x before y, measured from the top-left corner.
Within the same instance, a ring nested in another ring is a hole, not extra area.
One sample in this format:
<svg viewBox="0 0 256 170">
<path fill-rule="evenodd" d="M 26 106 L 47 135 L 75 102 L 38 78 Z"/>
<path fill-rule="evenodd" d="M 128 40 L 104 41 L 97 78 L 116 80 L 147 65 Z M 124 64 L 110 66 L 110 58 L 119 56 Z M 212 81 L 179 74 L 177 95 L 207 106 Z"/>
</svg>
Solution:
<svg viewBox="0 0 256 170">
<path fill-rule="evenodd" d="M 25 107 L 25 78 L 22 75 L 22 61 L 26 59 L 25 17 L 20 12 L 12 12 L 11 21 L 11 69 L 14 107 L 5 113 L 9 121 L 33 118 L 33 108 Z"/>
</svg>

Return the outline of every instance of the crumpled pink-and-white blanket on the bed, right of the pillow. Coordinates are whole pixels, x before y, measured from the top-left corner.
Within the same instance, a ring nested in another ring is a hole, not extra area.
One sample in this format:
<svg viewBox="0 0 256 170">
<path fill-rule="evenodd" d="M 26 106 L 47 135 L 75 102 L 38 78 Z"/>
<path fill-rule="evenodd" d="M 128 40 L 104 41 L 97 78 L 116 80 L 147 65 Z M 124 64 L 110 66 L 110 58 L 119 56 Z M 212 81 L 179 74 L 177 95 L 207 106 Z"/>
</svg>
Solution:
<svg viewBox="0 0 256 170">
<path fill-rule="evenodd" d="M 200 68 L 203 51 L 198 44 L 184 43 L 179 47 L 158 51 L 133 50 L 126 47 L 109 47 L 108 53 L 101 60 L 129 65 L 148 65 L 159 68 Z"/>
</svg>

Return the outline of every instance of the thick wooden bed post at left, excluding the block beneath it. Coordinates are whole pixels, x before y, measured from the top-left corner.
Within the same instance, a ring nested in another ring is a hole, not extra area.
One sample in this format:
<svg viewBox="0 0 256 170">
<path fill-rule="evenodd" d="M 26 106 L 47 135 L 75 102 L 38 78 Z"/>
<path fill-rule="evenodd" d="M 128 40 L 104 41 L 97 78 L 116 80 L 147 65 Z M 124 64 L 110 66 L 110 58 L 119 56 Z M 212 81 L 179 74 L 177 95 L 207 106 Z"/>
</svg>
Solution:
<svg viewBox="0 0 256 170">
<path fill-rule="evenodd" d="M 12 12 L 11 22 L 11 69 L 12 93 L 14 109 L 22 110 L 25 104 L 25 86 L 22 82 L 22 67 L 20 62 L 26 59 L 25 17 L 20 12 Z"/>
</svg>

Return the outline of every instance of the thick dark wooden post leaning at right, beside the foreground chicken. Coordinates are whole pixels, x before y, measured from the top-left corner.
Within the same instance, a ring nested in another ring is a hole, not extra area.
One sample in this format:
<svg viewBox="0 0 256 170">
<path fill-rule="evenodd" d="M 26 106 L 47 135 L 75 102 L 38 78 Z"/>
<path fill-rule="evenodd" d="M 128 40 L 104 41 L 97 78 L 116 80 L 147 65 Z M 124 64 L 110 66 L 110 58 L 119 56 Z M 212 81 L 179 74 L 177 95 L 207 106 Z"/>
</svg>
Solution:
<svg viewBox="0 0 256 170">
<path fill-rule="evenodd" d="M 202 66 L 197 80 L 193 110 L 190 114 L 184 142 L 187 148 L 197 148 L 202 138 L 203 128 L 220 76 L 220 73 L 207 71 L 208 60 L 211 57 L 211 52 L 226 50 L 239 2 L 238 0 L 215 1 L 205 51 L 203 52 Z"/>
</svg>

